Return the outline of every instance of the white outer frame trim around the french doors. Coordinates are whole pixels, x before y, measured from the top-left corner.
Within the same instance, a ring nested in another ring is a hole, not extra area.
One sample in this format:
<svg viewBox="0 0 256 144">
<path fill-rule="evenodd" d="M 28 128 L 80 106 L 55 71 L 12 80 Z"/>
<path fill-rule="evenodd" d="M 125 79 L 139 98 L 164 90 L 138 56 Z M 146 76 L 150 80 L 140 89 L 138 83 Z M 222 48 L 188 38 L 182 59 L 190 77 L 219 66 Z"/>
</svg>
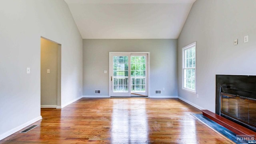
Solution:
<svg viewBox="0 0 256 144">
<path fill-rule="evenodd" d="M 130 55 L 130 54 L 148 54 L 148 97 L 150 97 L 150 52 L 109 52 L 109 63 L 112 60 L 112 58 L 110 57 L 110 55 L 112 54 L 120 54 L 120 55 Z M 108 80 L 109 80 L 109 97 L 111 97 L 111 76 L 112 74 L 110 73 L 110 69 L 112 67 L 109 64 L 109 76 L 108 76 Z M 130 73 L 130 72 L 129 72 Z M 129 83 L 130 84 L 130 83 Z"/>
</svg>

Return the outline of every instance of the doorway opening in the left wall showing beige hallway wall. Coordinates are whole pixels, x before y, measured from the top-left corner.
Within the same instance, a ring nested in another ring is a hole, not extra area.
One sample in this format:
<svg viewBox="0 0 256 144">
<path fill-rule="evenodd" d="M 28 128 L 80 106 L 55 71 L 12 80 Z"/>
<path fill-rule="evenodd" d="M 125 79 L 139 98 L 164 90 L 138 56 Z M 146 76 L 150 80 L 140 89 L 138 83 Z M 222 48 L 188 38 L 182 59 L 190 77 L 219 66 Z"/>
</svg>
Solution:
<svg viewBox="0 0 256 144">
<path fill-rule="evenodd" d="M 41 37 L 41 108 L 61 108 L 61 44 Z"/>
</svg>

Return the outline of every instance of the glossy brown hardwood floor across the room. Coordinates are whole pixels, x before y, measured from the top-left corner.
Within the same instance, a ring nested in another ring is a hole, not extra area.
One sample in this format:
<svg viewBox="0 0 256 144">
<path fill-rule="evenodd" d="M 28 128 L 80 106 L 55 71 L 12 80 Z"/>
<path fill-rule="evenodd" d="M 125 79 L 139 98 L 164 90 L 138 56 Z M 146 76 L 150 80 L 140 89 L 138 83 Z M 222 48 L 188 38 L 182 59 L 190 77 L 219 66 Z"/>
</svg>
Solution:
<svg viewBox="0 0 256 144">
<path fill-rule="evenodd" d="M 231 143 L 193 113 L 201 112 L 176 98 L 82 98 L 62 109 L 42 108 L 38 127 L 0 144 Z"/>
</svg>

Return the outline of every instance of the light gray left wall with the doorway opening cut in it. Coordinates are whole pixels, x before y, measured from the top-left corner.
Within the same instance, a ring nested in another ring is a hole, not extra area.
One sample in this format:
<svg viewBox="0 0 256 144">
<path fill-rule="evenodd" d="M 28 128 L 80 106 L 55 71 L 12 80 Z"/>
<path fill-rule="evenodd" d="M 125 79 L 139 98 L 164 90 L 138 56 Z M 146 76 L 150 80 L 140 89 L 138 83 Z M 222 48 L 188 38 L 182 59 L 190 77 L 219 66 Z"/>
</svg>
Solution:
<svg viewBox="0 0 256 144">
<path fill-rule="evenodd" d="M 82 96 L 82 37 L 64 0 L 1 0 L 0 18 L 2 139 L 41 117 L 41 36 L 62 44 L 61 104 Z"/>
</svg>

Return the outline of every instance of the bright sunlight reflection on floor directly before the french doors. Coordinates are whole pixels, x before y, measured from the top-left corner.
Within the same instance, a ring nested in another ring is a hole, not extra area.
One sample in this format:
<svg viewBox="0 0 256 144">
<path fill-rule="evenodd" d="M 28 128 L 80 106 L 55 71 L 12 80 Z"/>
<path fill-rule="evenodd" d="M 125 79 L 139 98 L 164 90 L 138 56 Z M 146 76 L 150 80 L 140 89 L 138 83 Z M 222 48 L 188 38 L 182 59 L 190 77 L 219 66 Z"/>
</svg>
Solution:
<svg viewBox="0 0 256 144">
<path fill-rule="evenodd" d="M 115 99 L 112 114 L 113 143 L 146 143 L 148 121 L 145 100 Z"/>
</svg>

